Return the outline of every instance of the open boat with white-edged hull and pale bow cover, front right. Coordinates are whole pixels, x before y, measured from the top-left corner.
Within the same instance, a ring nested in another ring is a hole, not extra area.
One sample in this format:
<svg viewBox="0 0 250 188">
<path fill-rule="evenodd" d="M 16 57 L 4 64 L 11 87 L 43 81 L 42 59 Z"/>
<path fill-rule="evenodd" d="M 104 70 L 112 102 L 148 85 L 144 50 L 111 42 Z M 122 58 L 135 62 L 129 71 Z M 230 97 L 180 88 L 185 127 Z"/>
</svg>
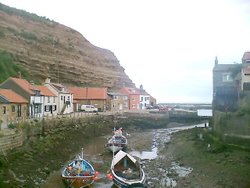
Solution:
<svg viewBox="0 0 250 188">
<path fill-rule="evenodd" d="M 114 184 L 121 188 L 146 187 L 146 177 L 141 164 L 122 150 L 113 157 L 111 176 Z"/>
</svg>

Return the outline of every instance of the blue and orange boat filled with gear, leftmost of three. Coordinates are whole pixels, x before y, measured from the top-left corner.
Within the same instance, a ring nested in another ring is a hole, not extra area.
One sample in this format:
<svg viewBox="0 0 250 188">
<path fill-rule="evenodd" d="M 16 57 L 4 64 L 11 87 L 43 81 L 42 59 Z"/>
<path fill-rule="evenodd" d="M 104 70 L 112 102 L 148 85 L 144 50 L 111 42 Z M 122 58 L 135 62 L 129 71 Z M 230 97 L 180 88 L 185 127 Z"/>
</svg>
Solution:
<svg viewBox="0 0 250 188">
<path fill-rule="evenodd" d="M 62 180 L 68 187 L 87 187 L 97 180 L 98 172 L 82 156 L 70 162 L 62 171 Z"/>
</svg>

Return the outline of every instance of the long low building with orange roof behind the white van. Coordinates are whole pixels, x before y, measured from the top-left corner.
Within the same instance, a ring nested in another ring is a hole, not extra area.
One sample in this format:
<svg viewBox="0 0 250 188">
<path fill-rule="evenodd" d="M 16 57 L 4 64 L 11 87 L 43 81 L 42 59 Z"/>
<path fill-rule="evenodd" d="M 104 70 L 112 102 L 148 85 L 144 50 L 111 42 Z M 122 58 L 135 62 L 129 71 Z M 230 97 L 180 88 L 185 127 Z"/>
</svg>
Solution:
<svg viewBox="0 0 250 188">
<path fill-rule="evenodd" d="M 99 112 L 107 108 L 107 88 L 69 87 L 74 97 L 74 110 L 80 111 L 81 105 L 93 105 Z"/>
</svg>

